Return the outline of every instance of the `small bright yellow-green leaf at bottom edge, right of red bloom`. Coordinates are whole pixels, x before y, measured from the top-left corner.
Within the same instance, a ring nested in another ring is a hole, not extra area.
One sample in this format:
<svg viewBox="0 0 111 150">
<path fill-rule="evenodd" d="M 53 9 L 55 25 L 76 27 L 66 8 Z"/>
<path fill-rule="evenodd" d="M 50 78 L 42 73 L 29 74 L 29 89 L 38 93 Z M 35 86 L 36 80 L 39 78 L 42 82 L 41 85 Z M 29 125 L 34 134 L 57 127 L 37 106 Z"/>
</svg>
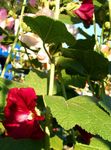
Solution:
<svg viewBox="0 0 111 150">
<path fill-rule="evenodd" d="M 54 136 L 50 138 L 50 145 L 50 147 L 53 148 L 53 150 L 62 150 L 63 141 L 58 136 Z"/>
</svg>

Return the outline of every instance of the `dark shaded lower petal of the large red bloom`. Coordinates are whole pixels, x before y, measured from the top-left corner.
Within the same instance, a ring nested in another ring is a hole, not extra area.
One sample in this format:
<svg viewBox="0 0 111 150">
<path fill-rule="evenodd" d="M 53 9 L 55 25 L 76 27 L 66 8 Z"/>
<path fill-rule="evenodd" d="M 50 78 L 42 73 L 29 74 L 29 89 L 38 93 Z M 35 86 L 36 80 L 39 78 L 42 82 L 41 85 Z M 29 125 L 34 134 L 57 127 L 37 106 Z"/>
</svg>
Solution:
<svg viewBox="0 0 111 150">
<path fill-rule="evenodd" d="M 5 121 L 4 126 L 7 129 L 8 136 L 13 137 L 14 139 L 42 139 L 45 135 L 45 133 L 40 128 L 40 125 L 37 120 L 28 120 L 20 124 L 8 124 Z"/>
</svg>

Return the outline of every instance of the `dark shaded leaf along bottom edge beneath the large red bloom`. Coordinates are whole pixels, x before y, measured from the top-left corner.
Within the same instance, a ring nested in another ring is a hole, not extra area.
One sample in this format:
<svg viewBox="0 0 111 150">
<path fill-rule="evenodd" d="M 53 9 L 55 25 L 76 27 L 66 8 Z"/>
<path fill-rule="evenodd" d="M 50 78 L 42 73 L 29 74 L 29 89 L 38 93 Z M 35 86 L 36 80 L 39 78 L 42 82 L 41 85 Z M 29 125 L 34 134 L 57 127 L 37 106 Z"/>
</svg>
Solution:
<svg viewBox="0 0 111 150">
<path fill-rule="evenodd" d="M 3 138 L 0 140 L 1 150 L 44 150 L 43 140 Z"/>
</svg>

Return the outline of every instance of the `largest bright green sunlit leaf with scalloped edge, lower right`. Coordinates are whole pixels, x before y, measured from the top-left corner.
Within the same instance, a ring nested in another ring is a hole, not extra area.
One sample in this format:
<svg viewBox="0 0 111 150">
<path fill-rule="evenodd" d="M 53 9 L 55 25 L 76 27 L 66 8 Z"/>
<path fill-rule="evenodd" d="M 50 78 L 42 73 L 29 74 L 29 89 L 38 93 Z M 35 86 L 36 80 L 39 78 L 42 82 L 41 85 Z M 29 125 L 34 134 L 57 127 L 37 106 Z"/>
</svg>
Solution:
<svg viewBox="0 0 111 150">
<path fill-rule="evenodd" d="M 66 101 L 59 96 L 45 96 L 44 100 L 53 117 L 66 130 L 79 125 L 87 132 L 111 141 L 111 117 L 97 106 L 94 97 L 77 96 Z"/>
</svg>

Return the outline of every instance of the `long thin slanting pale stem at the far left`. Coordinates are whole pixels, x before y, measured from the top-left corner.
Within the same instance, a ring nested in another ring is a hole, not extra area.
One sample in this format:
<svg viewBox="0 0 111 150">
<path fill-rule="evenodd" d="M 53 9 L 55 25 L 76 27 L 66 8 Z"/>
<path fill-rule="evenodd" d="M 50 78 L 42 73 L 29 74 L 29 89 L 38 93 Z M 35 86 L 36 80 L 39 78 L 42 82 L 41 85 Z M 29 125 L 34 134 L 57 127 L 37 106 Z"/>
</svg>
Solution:
<svg viewBox="0 0 111 150">
<path fill-rule="evenodd" d="M 16 34 L 16 36 L 15 36 L 15 40 L 14 40 L 12 46 L 11 46 L 10 54 L 8 55 L 8 57 L 7 57 L 7 59 L 6 59 L 6 62 L 5 62 L 3 71 L 2 71 L 2 73 L 1 73 L 1 77 L 2 77 L 2 78 L 4 77 L 4 74 L 5 74 L 5 71 L 6 71 L 6 67 L 7 67 L 7 65 L 9 64 L 9 61 L 10 61 L 10 59 L 11 59 L 11 54 L 12 54 L 12 52 L 14 51 L 14 48 L 15 48 L 16 43 L 17 43 L 17 41 L 18 41 L 19 32 L 20 32 L 20 27 L 21 27 L 21 23 L 22 23 L 22 20 L 23 20 L 23 14 L 24 14 L 26 2 L 27 2 L 27 0 L 24 0 L 24 1 L 23 1 L 22 10 L 21 10 L 21 15 L 20 15 L 20 21 L 19 21 L 19 22 L 20 22 L 20 23 L 19 23 L 19 27 L 18 27 L 18 30 L 17 30 L 17 34 Z"/>
</svg>

